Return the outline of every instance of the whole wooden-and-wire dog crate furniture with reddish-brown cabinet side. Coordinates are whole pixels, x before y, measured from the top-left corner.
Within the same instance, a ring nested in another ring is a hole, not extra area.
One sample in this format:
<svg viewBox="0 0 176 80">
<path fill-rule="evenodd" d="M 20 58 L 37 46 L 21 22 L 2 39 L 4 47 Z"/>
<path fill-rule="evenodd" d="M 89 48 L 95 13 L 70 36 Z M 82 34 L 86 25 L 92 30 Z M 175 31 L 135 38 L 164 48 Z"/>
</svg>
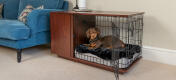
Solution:
<svg viewBox="0 0 176 80">
<path fill-rule="evenodd" d="M 142 57 L 143 14 L 52 12 L 51 51 L 59 57 L 114 71 L 118 79 L 118 73 L 127 72 Z M 94 39 L 89 35 L 92 33 L 96 33 Z"/>
</svg>

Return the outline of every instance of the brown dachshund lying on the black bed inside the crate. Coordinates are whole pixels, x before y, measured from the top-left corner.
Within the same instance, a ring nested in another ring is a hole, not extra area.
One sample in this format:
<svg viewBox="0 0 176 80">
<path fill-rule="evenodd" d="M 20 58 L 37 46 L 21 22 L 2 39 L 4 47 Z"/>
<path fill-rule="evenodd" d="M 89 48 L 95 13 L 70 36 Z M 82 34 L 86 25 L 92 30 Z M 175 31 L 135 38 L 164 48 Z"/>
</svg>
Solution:
<svg viewBox="0 0 176 80">
<path fill-rule="evenodd" d="M 89 49 L 97 48 L 124 48 L 125 44 L 116 36 L 104 36 L 100 37 L 100 30 L 96 27 L 89 28 L 86 31 L 87 38 L 89 39 L 89 44 L 87 45 Z"/>
</svg>

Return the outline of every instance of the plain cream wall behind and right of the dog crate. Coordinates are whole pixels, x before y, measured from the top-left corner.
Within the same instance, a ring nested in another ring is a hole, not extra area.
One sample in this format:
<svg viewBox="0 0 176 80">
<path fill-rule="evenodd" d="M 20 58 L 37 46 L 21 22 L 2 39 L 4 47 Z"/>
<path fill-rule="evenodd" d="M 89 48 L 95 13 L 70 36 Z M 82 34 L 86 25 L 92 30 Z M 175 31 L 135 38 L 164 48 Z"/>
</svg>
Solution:
<svg viewBox="0 0 176 80">
<path fill-rule="evenodd" d="M 144 11 L 143 44 L 176 50 L 175 3 L 176 0 L 87 0 L 87 7 L 103 11 Z"/>
</svg>

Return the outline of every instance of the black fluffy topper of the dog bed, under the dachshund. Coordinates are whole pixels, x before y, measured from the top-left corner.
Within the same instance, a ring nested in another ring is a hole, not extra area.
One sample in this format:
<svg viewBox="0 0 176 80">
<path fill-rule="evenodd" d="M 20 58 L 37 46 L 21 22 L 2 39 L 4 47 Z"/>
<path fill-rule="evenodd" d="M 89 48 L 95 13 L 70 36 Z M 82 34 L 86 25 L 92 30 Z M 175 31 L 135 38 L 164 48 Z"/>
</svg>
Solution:
<svg viewBox="0 0 176 80">
<path fill-rule="evenodd" d="M 85 45 L 79 45 L 76 47 L 76 51 L 79 53 L 91 53 L 93 55 L 96 55 L 102 59 L 105 60 L 112 60 L 112 53 L 115 53 L 116 59 L 119 58 L 133 58 L 133 55 L 135 53 L 141 52 L 141 47 L 138 45 L 132 45 L 132 44 L 125 44 L 125 48 L 119 48 L 119 49 L 104 49 L 104 48 L 97 48 L 97 49 L 88 49 Z"/>
</svg>

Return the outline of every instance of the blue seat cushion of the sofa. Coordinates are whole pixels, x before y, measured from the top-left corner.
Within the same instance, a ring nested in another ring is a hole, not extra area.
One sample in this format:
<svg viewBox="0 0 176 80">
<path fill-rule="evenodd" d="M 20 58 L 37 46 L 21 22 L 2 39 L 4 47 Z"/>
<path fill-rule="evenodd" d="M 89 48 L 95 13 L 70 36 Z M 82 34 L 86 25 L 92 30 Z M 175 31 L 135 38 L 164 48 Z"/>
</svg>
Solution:
<svg viewBox="0 0 176 80">
<path fill-rule="evenodd" d="M 10 40 L 28 39 L 30 28 L 18 20 L 0 19 L 0 38 Z"/>
</svg>

